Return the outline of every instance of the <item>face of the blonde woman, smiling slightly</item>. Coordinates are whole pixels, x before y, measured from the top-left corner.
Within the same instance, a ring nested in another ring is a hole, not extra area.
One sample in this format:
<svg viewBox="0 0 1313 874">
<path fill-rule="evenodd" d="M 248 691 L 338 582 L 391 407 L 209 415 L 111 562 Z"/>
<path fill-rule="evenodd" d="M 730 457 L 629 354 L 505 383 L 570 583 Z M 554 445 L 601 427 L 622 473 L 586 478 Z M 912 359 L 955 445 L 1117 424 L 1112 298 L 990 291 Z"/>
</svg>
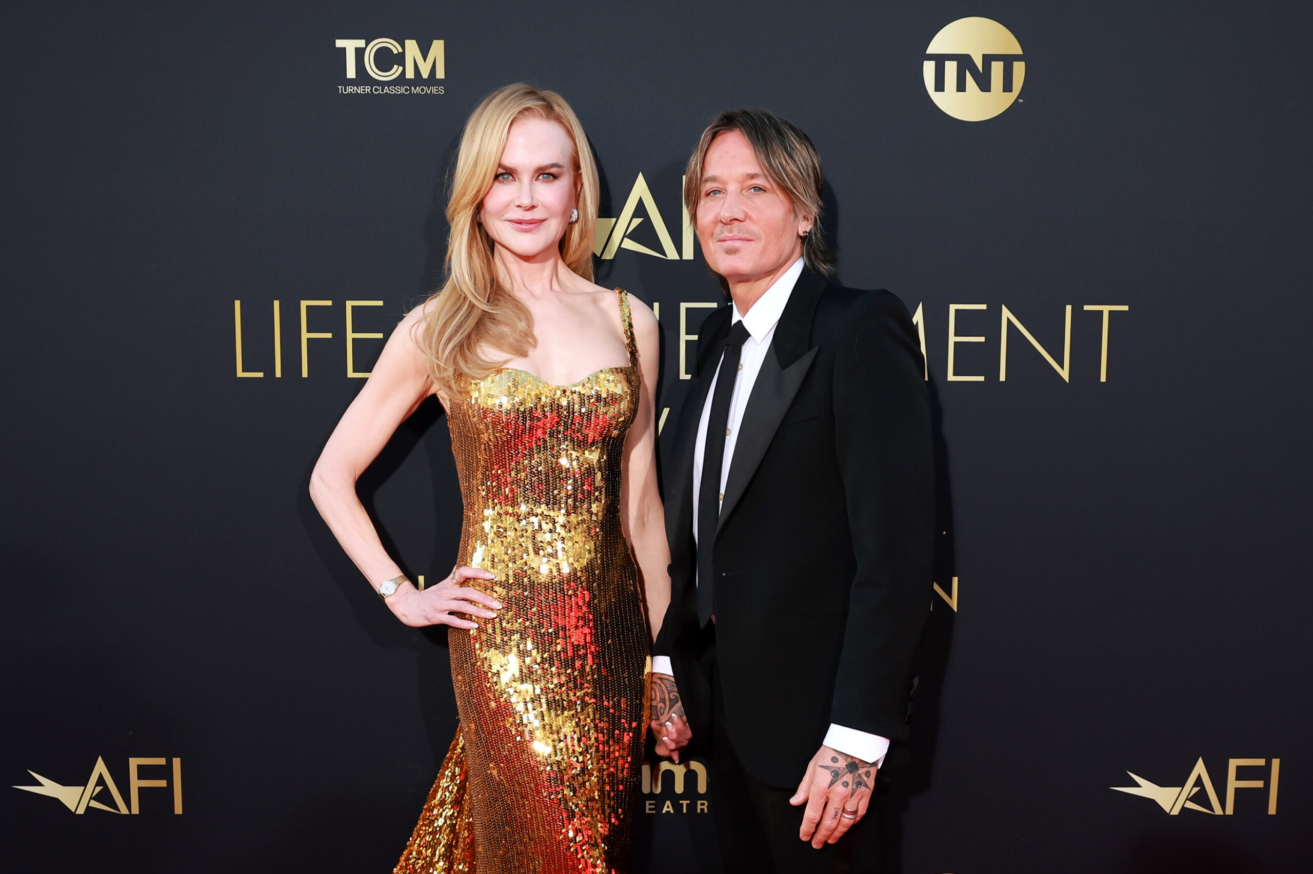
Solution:
<svg viewBox="0 0 1313 874">
<path fill-rule="evenodd" d="M 479 220 L 498 245 L 525 261 L 557 257 L 579 196 L 574 146 L 558 122 L 517 118 L 507 133 Z"/>
</svg>

